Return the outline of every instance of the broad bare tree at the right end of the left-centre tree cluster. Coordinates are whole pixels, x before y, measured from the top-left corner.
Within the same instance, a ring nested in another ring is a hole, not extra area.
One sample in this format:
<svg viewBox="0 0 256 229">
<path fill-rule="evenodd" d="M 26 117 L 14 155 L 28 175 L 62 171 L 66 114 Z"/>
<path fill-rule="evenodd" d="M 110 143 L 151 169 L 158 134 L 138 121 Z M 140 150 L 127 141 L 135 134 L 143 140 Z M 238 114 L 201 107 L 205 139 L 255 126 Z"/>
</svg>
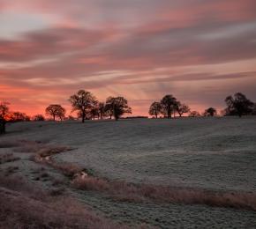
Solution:
<svg viewBox="0 0 256 229">
<path fill-rule="evenodd" d="M 128 106 L 128 101 L 124 97 L 109 97 L 106 100 L 109 113 L 113 114 L 116 121 L 125 113 L 132 114 L 132 108 Z"/>
</svg>

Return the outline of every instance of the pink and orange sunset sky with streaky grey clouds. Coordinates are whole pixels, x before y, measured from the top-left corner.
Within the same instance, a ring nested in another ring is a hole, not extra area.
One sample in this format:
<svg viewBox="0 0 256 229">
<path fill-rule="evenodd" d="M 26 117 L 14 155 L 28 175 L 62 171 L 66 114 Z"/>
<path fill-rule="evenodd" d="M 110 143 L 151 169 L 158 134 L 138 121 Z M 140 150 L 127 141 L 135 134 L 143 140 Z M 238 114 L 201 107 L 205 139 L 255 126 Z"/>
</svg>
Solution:
<svg viewBox="0 0 256 229">
<path fill-rule="evenodd" d="M 256 101 L 256 1 L 0 0 L 0 100 L 69 112 L 79 89 L 132 115 L 165 94 L 199 111 Z"/>
</svg>

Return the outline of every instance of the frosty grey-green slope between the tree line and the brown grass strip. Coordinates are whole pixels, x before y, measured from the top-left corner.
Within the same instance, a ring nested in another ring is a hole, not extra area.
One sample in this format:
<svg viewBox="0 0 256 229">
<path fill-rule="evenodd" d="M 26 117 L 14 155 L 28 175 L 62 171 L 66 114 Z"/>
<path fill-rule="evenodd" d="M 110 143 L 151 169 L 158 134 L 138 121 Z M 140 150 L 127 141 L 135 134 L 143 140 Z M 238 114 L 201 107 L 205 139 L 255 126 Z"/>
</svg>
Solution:
<svg viewBox="0 0 256 229">
<path fill-rule="evenodd" d="M 56 159 L 110 179 L 256 190 L 254 117 L 31 122 L 9 129 L 9 137 L 76 147 Z"/>
</svg>

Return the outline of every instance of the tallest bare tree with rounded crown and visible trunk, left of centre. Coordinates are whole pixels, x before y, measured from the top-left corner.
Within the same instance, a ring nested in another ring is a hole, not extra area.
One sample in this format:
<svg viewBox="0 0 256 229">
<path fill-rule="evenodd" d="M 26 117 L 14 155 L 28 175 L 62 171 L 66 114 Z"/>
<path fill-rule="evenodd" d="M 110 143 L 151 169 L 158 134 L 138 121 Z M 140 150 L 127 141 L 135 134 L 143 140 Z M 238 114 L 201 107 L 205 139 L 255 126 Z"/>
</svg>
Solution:
<svg viewBox="0 0 256 229">
<path fill-rule="evenodd" d="M 91 92 L 79 90 L 79 92 L 70 97 L 69 101 L 72 103 L 72 111 L 79 111 L 82 122 L 85 122 L 87 115 L 90 114 L 94 107 L 96 99 Z"/>
</svg>

